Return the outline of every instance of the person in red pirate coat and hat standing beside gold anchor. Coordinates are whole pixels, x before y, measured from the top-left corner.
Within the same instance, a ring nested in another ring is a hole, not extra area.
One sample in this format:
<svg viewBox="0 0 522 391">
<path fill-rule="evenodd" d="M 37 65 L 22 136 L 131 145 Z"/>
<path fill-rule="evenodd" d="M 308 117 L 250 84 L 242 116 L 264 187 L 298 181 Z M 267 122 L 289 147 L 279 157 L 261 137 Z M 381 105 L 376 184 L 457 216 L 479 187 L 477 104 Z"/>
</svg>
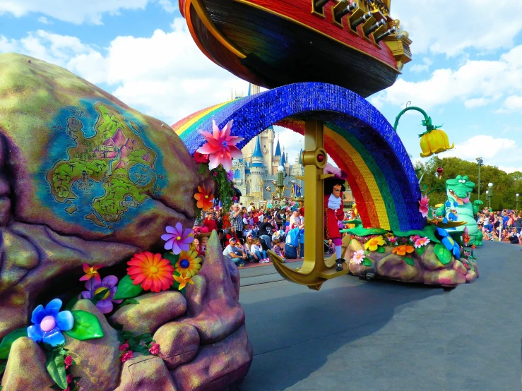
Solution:
<svg viewBox="0 0 522 391">
<path fill-rule="evenodd" d="M 343 172 L 336 173 L 332 170 L 331 172 L 326 171 L 326 174 L 334 174 L 335 176 L 324 181 L 324 239 L 331 239 L 336 248 L 337 271 L 340 272 L 343 270 L 345 260 L 341 253 L 343 242 L 341 241 L 338 222 L 344 219 L 343 192 L 346 191 L 344 186 L 346 180 L 342 177 Z"/>
</svg>

